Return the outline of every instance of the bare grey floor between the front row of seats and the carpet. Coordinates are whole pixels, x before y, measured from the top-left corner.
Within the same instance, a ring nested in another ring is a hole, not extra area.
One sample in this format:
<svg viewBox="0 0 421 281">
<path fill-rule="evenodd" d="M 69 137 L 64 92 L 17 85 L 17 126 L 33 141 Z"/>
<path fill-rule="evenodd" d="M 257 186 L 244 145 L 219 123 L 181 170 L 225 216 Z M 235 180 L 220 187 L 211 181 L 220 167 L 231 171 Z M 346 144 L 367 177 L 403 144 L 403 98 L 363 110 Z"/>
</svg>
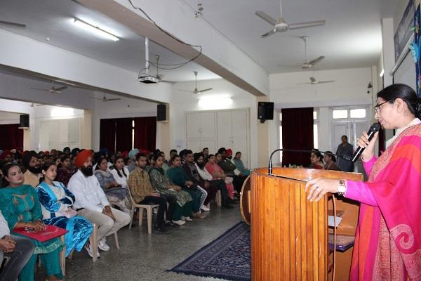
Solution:
<svg viewBox="0 0 421 281">
<path fill-rule="evenodd" d="M 111 250 L 101 251 L 101 258 L 95 263 L 85 250 L 75 253 L 73 264 L 66 264 L 65 280 L 220 280 L 166 272 L 241 221 L 238 204 L 234 209 L 213 205 L 206 214 L 206 219 L 195 219 L 172 229 L 168 235 L 156 234 L 154 230 L 148 235 L 146 221 L 141 228 L 134 222 L 131 230 L 126 227 L 119 231 L 119 250 L 114 236 L 107 237 Z M 39 269 L 36 280 L 44 281 L 44 276 L 44 270 Z"/>
</svg>

